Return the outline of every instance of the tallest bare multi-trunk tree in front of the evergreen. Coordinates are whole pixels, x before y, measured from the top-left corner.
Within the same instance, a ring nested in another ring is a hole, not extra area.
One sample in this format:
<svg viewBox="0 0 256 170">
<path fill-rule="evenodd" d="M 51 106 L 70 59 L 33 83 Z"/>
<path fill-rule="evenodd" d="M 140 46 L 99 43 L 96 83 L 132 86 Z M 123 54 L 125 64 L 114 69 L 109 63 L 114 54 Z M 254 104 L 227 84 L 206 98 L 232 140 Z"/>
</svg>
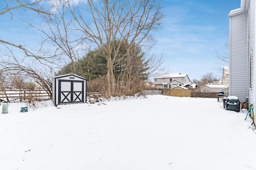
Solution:
<svg viewBox="0 0 256 170">
<path fill-rule="evenodd" d="M 79 5 L 72 1 L 67 1 L 67 4 L 76 21 L 76 29 L 84 33 L 84 39 L 96 44 L 106 58 L 108 95 L 115 95 L 113 68 L 120 45 L 122 41 L 127 43 L 127 53 L 119 59 L 127 56 L 132 47 L 154 45 L 151 33 L 160 28 L 164 17 L 160 1 L 85 0 Z M 114 41 L 119 43 L 112 43 Z"/>
</svg>

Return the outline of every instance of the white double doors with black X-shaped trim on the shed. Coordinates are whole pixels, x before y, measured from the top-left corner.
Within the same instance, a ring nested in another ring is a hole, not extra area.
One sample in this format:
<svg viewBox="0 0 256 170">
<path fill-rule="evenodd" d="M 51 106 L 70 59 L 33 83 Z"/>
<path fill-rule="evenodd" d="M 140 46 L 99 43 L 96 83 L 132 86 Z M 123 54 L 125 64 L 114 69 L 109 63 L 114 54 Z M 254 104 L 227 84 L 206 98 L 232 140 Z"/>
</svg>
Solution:
<svg viewBox="0 0 256 170">
<path fill-rule="evenodd" d="M 59 80 L 58 104 L 84 103 L 84 81 Z"/>
</svg>

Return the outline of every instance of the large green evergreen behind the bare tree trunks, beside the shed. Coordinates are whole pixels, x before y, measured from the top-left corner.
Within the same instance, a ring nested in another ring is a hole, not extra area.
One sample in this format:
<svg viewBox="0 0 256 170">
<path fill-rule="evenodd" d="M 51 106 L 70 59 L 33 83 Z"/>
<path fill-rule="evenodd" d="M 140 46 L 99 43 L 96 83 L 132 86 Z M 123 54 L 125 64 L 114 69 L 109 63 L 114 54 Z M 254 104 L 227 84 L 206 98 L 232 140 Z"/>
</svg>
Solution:
<svg viewBox="0 0 256 170">
<path fill-rule="evenodd" d="M 116 41 L 112 43 L 116 43 Z M 126 53 L 125 44 L 122 44 L 113 68 L 117 95 L 133 95 L 148 79 L 150 61 L 146 59 L 141 48 L 137 47 L 130 51 L 130 55 L 134 56 L 130 61 L 126 57 L 122 57 Z M 89 90 L 104 89 L 104 83 L 97 79 L 106 80 L 107 61 L 99 49 L 89 51 L 74 66 L 77 70 L 76 74 L 87 78 Z M 74 73 L 72 70 L 73 64 L 69 63 L 57 75 Z M 100 84 L 95 84 L 95 82 Z M 101 88 L 99 88 L 100 85 Z"/>
</svg>

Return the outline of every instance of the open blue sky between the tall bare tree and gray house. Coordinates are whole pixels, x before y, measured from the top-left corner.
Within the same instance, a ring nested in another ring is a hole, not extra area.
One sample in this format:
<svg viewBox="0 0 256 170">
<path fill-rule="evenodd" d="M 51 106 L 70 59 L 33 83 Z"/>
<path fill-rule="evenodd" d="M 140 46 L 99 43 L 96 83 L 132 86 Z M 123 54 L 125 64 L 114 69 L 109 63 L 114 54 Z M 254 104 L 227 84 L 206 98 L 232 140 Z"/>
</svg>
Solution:
<svg viewBox="0 0 256 170">
<path fill-rule="evenodd" d="M 163 0 L 166 18 L 156 33 L 156 50 L 165 57 L 169 73 L 188 74 L 190 80 L 216 70 L 220 60 L 216 51 L 228 43 L 231 10 L 240 8 L 240 0 Z M 228 66 L 228 65 L 226 65 Z"/>
</svg>

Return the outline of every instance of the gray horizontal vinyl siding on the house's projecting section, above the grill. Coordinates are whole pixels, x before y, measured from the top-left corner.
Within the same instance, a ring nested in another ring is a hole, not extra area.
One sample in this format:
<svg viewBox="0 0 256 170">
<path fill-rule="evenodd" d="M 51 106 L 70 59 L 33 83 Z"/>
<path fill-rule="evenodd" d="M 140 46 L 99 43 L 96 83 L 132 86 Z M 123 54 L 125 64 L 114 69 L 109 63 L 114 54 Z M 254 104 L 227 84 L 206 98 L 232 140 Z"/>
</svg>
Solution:
<svg viewBox="0 0 256 170">
<path fill-rule="evenodd" d="M 237 96 L 241 102 L 247 97 L 247 36 L 248 12 L 230 14 L 230 96 Z"/>
</svg>

